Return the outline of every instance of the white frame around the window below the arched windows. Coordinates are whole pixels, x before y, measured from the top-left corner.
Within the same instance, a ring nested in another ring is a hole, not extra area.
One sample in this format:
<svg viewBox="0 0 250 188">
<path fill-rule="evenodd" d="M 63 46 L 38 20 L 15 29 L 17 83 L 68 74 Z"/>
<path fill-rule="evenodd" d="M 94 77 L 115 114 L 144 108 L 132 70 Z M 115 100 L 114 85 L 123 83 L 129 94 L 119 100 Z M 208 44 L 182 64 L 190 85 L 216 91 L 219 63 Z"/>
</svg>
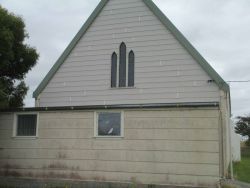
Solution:
<svg viewBox="0 0 250 188">
<path fill-rule="evenodd" d="M 120 136 L 99 136 L 98 135 L 98 114 L 99 113 L 121 113 L 121 135 Z M 124 138 L 124 111 L 121 110 L 100 110 L 94 112 L 94 138 Z"/>
</svg>

